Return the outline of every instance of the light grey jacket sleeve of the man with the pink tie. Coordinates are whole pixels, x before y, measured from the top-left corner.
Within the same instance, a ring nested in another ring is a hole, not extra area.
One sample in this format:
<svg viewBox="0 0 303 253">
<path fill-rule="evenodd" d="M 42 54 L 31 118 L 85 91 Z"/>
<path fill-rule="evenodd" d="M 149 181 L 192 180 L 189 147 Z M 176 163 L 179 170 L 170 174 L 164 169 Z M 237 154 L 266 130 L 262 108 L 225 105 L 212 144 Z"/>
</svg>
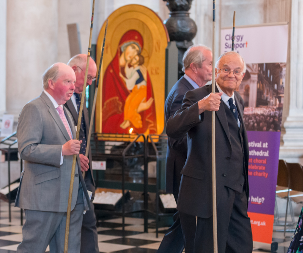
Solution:
<svg viewBox="0 0 303 253">
<path fill-rule="evenodd" d="M 39 109 L 27 104 L 19 115 L 18 150 L 23 160 L 60 167 L 62 145 L 40 144 L 43 122 Z"/>
</svg>

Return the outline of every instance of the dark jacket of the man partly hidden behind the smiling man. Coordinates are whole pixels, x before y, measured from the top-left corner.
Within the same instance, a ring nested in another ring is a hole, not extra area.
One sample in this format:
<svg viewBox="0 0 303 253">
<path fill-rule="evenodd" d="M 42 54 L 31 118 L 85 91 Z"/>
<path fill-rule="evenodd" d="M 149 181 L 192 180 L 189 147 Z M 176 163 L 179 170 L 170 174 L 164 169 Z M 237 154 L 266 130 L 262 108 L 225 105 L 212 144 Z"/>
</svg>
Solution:
<svg viewBox="0 0 303 253">
<path fill-rule="evenodd" d="M 165 120 L 181 109 L 182 101 L 186 92 L 193 90 L 192 85 L 181 77 L 173 86 L 165 101 Z M 180 140 L 168 138 L 166 154 L 166 192 L 175 193 L 179 191 L 181 181 L 181 170 L 187 157 L 186 133 Z M 175 191 L 174 191 L 175 189 Z M 177 190 L 176 190 L 177 189 Z M 176 192 L 177 191 L 177 192 Z"/>
</svg>

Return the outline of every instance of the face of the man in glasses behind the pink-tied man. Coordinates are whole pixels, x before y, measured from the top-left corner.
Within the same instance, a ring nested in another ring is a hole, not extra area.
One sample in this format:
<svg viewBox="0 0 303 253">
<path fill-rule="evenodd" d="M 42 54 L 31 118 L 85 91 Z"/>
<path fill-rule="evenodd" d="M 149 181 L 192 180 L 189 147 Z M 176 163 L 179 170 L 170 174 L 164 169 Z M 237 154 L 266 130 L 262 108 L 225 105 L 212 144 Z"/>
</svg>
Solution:
<svg viewBox="0 0 303 253">
<path fill-rule="evenodd" d="M 73 70 L 75 71 L 75 74 L 76 74 L 75 93 L 80 94 L 83 91 L 85 68 L 86 68 L 86 65 L 84 65 L 84 67 L 83 66 L 82 67 L 73 66 Z M 88 66 L 86 86 L 91 85 L 92 79 L 95 78 L 96 73 L 97 73 L 97 66 L 94 63 L 94 61 L 90 59 L 89 66 Z"/>
</svg>

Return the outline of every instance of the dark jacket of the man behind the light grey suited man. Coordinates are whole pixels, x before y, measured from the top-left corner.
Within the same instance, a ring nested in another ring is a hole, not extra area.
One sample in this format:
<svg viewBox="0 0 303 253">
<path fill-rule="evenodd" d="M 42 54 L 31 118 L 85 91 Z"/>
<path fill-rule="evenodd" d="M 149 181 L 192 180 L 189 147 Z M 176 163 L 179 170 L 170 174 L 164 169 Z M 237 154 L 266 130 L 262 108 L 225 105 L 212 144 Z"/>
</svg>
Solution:
<svg viewBox="0 0 303 253">
<path fill-rule="evenodd" d="M 82 95 L 80 94 L 80 98 L 82 98 Z M 86 103 L 86 98 L 84 98 L 84 106 L 83 106 L 83 115 L 84 115 L 84 122 L 85 122 L 85 128 L 86 128 L 86 136 L 88 136 L 88 131 L 89 131 L 89 119 L 88 119 L 88 110 L 85 106 L 85 103 Z M 74 124 L 77 125 L 78 124 L 78 113 L 75 109 L 75 106 L 72 102 L 72 100 L 68 100 L 66 101 L 65 105 L 64 105 L 69 111 L 70 113 L 72 114 L 73 116 L 73 119 L 74 119 Z M 80 134 L 83 134 L 83 131 L 82 129 L 80 129 Z M 86 140 L 87 141 L 87 140 Z M 85 175 L 85 178 L 88 177 L 88 173 L 90 173 L 90 176 L 91 176 L 91 180 L 92 180 L 92 183 L 93 183 L 93 186 L 95 186 L 95 182 L 93 180 L 93 174 L 92 174 L 92 165 L 91 165 L 91 149 L 90 149 L 90 146 L 89 146 L 89 151 L 88 151 L 88 159 L 89 159 L 89 170 L 86 172 L 86 175 Z M 86 181 L 86 180 L 85 180 Z M 90 190 L 89 189 L 89 186 L 87 186 L 87 190 Z"/>
</svg>

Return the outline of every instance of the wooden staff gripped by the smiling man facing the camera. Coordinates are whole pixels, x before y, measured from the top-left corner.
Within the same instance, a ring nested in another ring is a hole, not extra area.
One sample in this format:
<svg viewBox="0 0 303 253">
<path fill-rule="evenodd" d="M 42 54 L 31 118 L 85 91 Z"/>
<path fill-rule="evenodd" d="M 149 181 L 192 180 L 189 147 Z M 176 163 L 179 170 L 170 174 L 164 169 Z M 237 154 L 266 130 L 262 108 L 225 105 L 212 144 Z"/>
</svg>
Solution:
<svg viewBox="0 0 303 253">
<path fill-rule="evenodd" d="M 215 53 L 216 53 L 216 0 L 213 0 L 213 93 L 216 93 L 215 80 Z M 217 236 L 217 193 L 216 193 L 216 112 L 212 112 L 212 165 L 213 165 L 213 231 L 214 231 L 214 253 L 218 253 Z"/>
</svg>

